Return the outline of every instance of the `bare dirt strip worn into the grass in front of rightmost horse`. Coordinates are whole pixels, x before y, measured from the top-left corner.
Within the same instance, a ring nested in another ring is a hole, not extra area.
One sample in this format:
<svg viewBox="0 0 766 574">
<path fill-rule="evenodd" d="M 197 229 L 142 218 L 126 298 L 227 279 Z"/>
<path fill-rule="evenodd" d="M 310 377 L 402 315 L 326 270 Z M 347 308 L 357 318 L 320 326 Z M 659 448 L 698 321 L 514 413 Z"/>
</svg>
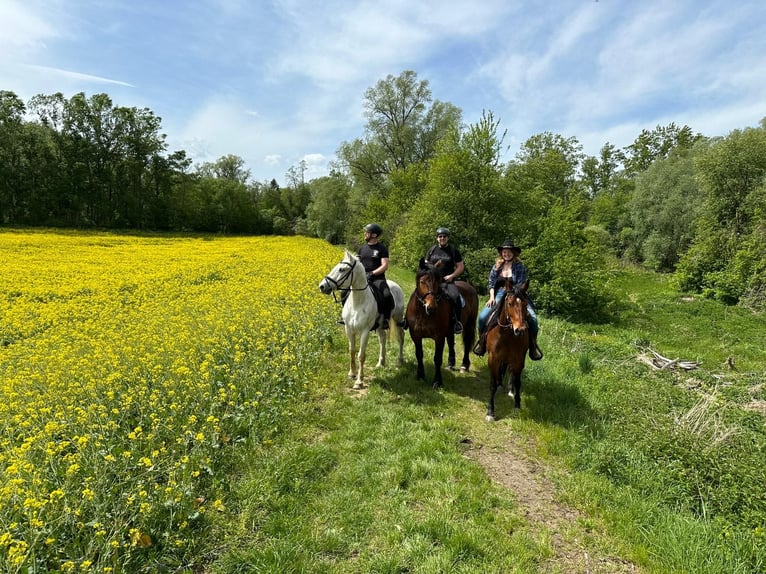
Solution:
<svg viewBox="0 0 766 574">
<path fill-rule="evenodd" d="M 550 537 L 553 556 L 542 572 L 566 574 L 621 574 L 640 572 L 620 557 L 594 549 L 591 528 L 575 509 L 556 500 L 556 489 L 546 477 L 548 470 L 524 445 L 507 433 L 505 448 L 485 447 L 466 441 L 466 456 L 477 461 L 490 478 L 513 491 L 533 535 Z"/>
</svg>

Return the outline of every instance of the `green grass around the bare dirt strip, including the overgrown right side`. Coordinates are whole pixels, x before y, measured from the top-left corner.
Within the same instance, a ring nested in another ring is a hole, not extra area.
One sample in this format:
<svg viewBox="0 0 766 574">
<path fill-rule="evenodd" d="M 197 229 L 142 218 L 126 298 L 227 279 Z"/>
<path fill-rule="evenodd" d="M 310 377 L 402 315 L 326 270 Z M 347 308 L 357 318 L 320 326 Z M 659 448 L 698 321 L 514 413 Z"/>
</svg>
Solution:
<svg viewBox="0 0 766 574">
<path fill-rule="evenodd" d="M 391 278 L 409 293 L 410 275 Z M 642 572 L 766 571 L 766 419 L 750 409 L 765 398 L 766 321 L 634 269 L 610 288 L 621 295 L 610 324 L 541 318 L 545 359 L 527 364 L 520 412 L 498 396 L 494 424 L 486 359 L 434 392 L 415 381 L 408 341 L 405 367 L 371 371 L 357 395 L 338 333 L 318 366 L 327 387 L 233 477 L 233 520 L 209 570 L 566 572 L 551 560 L 554 533 L 465 456 L 470 443 L 527 445 L 581 517 L 556 534 L 586 552 Z M 700 368 L 653 370 L 638 360 L 647 349 Z"/>
</svg>

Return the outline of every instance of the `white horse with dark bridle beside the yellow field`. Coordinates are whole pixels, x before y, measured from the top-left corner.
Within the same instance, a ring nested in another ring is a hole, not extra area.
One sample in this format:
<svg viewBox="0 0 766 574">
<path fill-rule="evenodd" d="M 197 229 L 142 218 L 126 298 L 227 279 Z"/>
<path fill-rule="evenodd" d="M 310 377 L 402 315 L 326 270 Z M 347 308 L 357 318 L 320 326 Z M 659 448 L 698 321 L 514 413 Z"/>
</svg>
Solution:
<svg viewBox="0 0 766 574">
<path fill-rule="evenodd" d="M 401 324 L 404 319 L 404 292 L 395 282 L 388 280 L 388 288 L 394 298 L 394 310 L 391 313 L 389 330 L 399 342 L 399 359 L 396 366 L 401 367 L 404 362 L 404 331 Z M 361 389 L 364 381 L 364 361 L 367 358 L 367 341 L 370 330 L 375 321 L 381 324 L 383 315 L 378 313 L 378 303 L 367 283 L 367 275 L 364 266 L 359 259 L 346 249 L 346 255 L 332 270 L 325 275 L 319 283 L 319 290 L 325 295 L 336 291 L 349 291 L 348 299 L 343 305 L 343 322 L 346 324 L 346 337 L 348 338 L 348 352 L 350 355 L 350 368 L 348 376 L 355 378 L 355 389 Z M 376 367 L 386 364 L 386 339 L 387 332 L 378 327 L 380 339 L 380 355 Z M 357 354 L 356 341 L 359 338 L 359 353 Z M 358 360 L 358 364 L 357 364 Z"/>
</svg>

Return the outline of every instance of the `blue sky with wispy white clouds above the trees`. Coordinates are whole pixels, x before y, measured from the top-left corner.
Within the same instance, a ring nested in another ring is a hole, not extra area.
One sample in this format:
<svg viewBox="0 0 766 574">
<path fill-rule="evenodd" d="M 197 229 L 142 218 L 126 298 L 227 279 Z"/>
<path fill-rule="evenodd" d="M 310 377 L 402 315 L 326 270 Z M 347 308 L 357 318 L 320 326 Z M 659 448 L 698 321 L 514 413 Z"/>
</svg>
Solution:
<svg viewBox="0 0 766 574">
<path fill-rule="evenodd" d="M 257 181 L 325 175 L 403 70 L 467 123 L 492 111 L 504 160 L 545 131 L 590 155 L 670 122 L 727 135 L 766 117 L 766 2 L 0 0 L 0 90 L 147 107 L 169 151 Z"/>
</svg>

